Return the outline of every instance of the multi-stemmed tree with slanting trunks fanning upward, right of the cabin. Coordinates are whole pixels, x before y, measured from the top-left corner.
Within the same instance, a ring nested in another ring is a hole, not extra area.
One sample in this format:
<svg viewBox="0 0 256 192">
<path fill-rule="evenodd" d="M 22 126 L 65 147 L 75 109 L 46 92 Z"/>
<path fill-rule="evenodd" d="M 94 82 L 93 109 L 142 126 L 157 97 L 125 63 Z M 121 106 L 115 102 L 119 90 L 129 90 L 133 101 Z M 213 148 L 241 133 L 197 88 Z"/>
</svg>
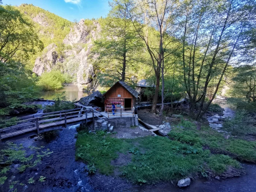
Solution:
<svg viewBox="0 0 256 192">
<path fill-rule="evenodd" d="M 255 22 L 254 1 L 184 1 L 180 10 L 182 65 L 184 83 L 190 101 L 189 114 L 202 117 L 218 92 L 223 76 L 238 50 L 242 34 Z M 183 14 L 182 14 L 183 13 Z M 213 94 L 205 104 L 208 87 Z M 195 103 L 200 102 L 194 114 Z"/>
</svg>

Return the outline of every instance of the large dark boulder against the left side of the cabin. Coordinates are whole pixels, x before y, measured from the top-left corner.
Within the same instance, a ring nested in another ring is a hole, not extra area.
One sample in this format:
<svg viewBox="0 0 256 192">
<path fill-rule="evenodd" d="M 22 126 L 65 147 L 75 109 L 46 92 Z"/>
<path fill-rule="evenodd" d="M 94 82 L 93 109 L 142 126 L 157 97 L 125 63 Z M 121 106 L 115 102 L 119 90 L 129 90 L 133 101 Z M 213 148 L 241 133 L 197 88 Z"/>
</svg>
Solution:
<svg viewBox="0 0 256 192">
<path fill-rule="evenodd" d="M 103 107 L 104 103 L 102 103 L 101 97 L 102 97 L 102 94 L 99 91 L 95 91 L 93 94 L 87 97 L 82 97 L 79 100 L 79 103 L 82 103 L 85 106 Z"/>
</svg>

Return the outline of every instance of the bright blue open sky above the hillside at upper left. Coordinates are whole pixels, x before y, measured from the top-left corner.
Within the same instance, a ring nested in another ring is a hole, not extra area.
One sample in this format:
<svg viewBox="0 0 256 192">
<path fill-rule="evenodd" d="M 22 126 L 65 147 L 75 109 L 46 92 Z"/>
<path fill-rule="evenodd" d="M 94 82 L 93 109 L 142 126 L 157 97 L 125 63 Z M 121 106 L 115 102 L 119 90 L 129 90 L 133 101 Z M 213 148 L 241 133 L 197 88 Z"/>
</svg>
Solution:
<svg viewBox="0 0 256 192">
<path fill-rule="evenodd" d="M 33 4 L 70 21 L 105 17 L 109 0 L 3 0 L 3 5 Z"/>
</svg>

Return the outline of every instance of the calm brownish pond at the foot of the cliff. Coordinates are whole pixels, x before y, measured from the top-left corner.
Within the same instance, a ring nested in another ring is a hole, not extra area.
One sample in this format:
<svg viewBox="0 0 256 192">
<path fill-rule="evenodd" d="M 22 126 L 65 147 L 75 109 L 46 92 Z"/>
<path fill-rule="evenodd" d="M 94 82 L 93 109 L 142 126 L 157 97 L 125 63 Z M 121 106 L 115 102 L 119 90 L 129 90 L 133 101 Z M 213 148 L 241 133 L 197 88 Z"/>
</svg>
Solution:
<svg viewBox="0 0 256 192">
<path fill-rule="evenodd" d="M 69 101 L 77 101 L 82 97 L 90 95 L 89 92 L 80 91 L 75 84 L 67 84 L 63 89 L 57 91 L 45 91 L 41 95 L 41 98 L 52 100 L 56 94 L 61 94 L 63 91 L 65 91 L 65 95 L 67 96 Z"/>
</svg>

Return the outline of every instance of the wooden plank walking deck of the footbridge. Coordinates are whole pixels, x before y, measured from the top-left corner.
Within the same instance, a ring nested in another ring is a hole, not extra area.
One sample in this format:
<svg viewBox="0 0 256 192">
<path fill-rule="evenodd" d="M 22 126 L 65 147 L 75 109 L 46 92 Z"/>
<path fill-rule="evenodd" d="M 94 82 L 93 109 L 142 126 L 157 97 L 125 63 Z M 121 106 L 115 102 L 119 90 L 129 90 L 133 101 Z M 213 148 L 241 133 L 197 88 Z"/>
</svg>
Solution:
<svg viewBox="0 0 256 192">
<path fill-rule="evenodd" d="M 63 118 L 61 118 L 61 117 L 38 121 L 39 123 L 46 123 L 46 124 L 39 125 L 39 133 L 46 132 L 46 131 L 53 131 L 56 129 L 61 129 L 61 128 L 65 127 L 65 124 L 68 127 L 71 125 L 76 125 L 76 124 L 80 124 L 80 123 L 86 123 L 86 122 L 93 121 L 93 113 L 87 113 L 87 115 L 86 114 L 78 114 L 77 116 L 78 117 L 74 117 L 74 118 L 66 118 L 66 122 L 65 122 L 65 120 L 62 120 Z M 94 117 L 102 117 L 102 114 L 94 113 Z M 55 122 L 47 123 L 47 121 L 55 121 Z M 20 130 L 14 130 L 11 132 L 1 133 L 0 136 L 1 136 L 1 140 L 7 140 L 7 139 L 14 138 L 17 136 L 27 135 L 27 133 L 31 133 L 30 136 L 37 135 L 38 129 L 37 129 L 37 127 L 23 128 Z"/>
</svg>

